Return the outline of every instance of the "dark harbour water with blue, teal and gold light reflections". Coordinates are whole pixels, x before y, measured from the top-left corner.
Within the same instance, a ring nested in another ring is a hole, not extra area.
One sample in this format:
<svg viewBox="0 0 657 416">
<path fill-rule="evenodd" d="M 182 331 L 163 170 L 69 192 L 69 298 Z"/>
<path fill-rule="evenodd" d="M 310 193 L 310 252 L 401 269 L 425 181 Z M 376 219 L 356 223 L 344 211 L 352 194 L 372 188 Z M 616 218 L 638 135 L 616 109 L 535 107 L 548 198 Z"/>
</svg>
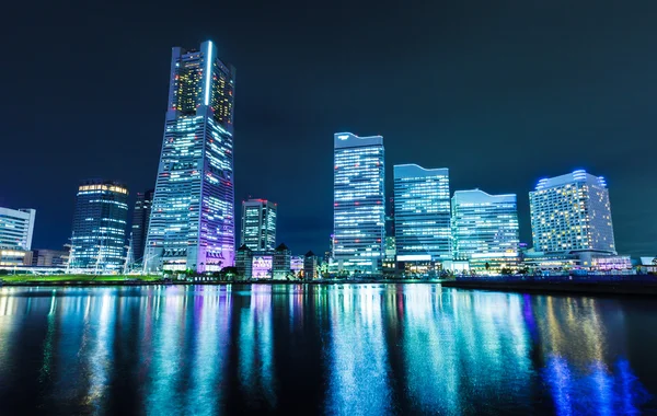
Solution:
<svg viewBox="0 0 657 416">
<path fill-rule="evenodd" d="M 0 414 L 653 413 L 656 323 L 428 284 L 0 288 Z"/>
</svg>

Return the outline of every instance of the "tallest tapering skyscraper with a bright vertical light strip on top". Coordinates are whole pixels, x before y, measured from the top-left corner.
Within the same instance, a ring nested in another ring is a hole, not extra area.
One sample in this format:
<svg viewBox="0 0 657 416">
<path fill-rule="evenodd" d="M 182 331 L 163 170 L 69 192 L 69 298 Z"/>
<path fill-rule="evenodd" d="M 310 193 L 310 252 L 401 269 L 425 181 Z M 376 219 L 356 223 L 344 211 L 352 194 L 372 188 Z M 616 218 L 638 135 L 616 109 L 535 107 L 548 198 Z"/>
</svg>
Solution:
<svg viewBox="0 0 657 416">
<path fill-rule="evenodd" d="M 198 50 L 173 48 L 147 271 L 233 265 L 234 78 L 210 41 Z"/>
</svg>

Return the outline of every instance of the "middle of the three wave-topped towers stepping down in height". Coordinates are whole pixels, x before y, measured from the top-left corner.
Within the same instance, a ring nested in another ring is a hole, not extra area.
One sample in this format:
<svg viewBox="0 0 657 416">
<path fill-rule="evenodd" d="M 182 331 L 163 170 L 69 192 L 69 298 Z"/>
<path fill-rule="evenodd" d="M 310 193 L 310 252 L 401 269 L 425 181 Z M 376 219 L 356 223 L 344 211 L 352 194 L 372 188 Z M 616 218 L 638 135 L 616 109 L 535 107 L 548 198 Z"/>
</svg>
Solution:
<svg viewBox="0 0 657 416">
<path fill-rule="evenodd" d="M 399 262 L 451 256 L 449 170 L 394 166 L 394 231 Z"/>
</svg>

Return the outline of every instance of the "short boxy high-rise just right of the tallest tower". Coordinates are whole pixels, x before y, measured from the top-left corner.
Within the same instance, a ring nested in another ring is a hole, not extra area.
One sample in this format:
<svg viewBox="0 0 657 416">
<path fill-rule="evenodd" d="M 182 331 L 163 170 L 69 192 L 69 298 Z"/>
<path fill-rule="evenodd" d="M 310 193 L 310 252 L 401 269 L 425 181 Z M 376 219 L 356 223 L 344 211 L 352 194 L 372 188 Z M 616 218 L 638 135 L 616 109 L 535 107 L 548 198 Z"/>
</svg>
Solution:
<svg viewBox="0 0 657 416">
<path fill-rule="evenodd" d="M 266 199 L 242 201 L 242 240 L 251 250 L 276 247 L 276 204 Z"/>
</svg>

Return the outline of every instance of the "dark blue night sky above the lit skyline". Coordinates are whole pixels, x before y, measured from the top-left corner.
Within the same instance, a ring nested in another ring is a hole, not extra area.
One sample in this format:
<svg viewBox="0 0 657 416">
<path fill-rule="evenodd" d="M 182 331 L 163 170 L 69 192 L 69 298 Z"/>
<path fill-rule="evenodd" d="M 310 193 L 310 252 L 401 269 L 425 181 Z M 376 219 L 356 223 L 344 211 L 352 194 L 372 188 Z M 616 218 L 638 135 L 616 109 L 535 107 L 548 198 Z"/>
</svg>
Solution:
<svg viewBox="0 0 657 416">
<path fill-rule="evenodd" d="M 154 186 L 171 47 L 212 39 L 238 70 L 237 205 L 278 203 L 295 253 L 327 249 L 333 134 L 351 131 L 384 137 L 389 196 L 397 163 L 518 194 L 529 243 L 540 177 L 606 176 L 619 252 L 657 254 L 657 1 L 20 3 L 0 206 L 37 210 L 33 249 L 67 242 L 80 180 Z"/>
</svg>

